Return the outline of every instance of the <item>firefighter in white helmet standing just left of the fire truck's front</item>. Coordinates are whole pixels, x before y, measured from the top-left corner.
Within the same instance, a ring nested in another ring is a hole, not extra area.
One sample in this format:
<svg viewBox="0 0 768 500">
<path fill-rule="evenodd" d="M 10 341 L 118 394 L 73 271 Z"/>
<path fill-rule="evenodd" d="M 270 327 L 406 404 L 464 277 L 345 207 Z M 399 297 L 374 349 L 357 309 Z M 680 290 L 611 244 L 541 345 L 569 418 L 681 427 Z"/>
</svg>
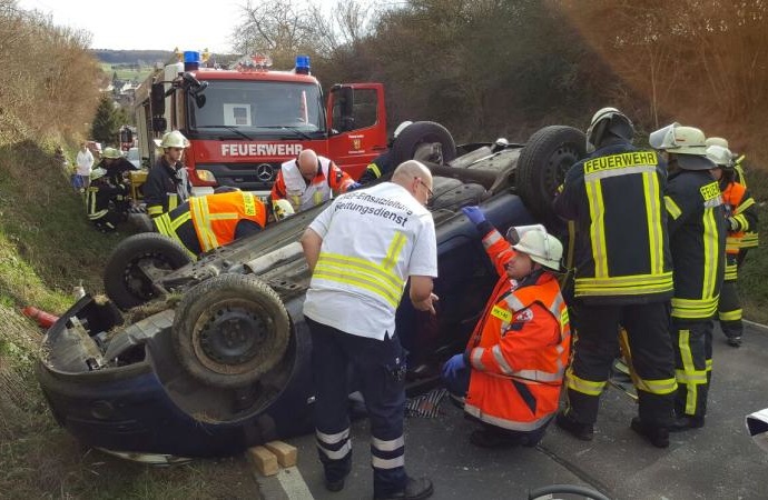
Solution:
<svg viewBox="0 0 768 500">
<path fill-rule="evenodd" d="M 174 130 L 163 136 L 157 146 L 163 149 L 163 156 L 149 170 L 142 187 L 147 213 L 151 218 L 174 210 L 191 193 L 187 168 L 181 162 L 184 149 L 189 146 L 187 138 Z"/>
</svg>

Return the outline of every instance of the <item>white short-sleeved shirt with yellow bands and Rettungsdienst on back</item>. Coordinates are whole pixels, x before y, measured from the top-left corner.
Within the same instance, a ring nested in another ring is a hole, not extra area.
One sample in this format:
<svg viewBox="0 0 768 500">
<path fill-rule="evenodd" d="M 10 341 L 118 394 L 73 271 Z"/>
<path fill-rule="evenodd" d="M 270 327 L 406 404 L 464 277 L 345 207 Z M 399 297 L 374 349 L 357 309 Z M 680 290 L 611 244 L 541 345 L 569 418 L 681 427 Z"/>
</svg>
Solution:
<svg viewBox="0 0 768 500">
<path fill-rule="evenodd" d="M 393 182 L 342 194 L 309 228 L 323 244 L 304 314 L 319 323 L 383 340 L 407 278 L 437 277 L 432 213 Z"/>
</svg>

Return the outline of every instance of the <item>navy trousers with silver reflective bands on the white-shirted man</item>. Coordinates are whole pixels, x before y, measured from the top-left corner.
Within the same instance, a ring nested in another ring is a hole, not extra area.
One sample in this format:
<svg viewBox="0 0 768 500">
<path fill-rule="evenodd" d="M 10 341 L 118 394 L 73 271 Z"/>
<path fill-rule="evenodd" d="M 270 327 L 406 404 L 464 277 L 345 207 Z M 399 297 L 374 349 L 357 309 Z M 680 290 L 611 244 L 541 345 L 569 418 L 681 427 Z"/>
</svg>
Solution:
<svg viewBox="0 0 768 500">
<path fill-rule="evenodd" d="M 344 478 L 352 467 L 347 397 L 354 383 L 360 386 L 371 421 L 374 496 L 403 491 L 405 353 L 397 336 L 368 339 L 309 318 L 306 322 L 312 333 L 317 448 L 326 480 Z M 349 366 L 354 380 L 348 380 Z"/>
</svg>

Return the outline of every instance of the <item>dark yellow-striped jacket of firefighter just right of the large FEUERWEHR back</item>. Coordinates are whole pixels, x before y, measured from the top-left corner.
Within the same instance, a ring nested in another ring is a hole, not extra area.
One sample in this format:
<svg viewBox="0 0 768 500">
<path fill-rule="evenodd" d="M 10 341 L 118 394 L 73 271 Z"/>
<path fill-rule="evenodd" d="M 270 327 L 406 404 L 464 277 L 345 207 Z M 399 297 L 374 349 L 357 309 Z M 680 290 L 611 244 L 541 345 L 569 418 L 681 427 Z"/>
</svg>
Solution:
<svg viewBox="0 0 768 500">
<path fill-rule="evenodd" d="M 706 320 L 717 312 L 725 272 L 726 213 L 720 187 L 706 170 L 670 176 L 664 197 L 675 261 L 672 317 Z"/>
</svg>

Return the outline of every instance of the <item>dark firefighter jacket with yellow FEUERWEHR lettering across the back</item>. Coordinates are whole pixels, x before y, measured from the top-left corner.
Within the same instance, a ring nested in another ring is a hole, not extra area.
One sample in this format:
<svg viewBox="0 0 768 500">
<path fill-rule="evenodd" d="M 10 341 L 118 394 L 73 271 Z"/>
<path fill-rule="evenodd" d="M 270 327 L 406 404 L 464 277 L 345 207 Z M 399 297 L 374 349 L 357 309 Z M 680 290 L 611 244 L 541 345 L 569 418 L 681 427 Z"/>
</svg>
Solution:
<svg viewBox="0 0 768 500">
<path fill-rule="evenodd" d="M 575 297 L 643 303 L 672 296 L 666 166 L 617 140 L 567 173 L 554 210 L 575 221 Z"/>
</svg>

